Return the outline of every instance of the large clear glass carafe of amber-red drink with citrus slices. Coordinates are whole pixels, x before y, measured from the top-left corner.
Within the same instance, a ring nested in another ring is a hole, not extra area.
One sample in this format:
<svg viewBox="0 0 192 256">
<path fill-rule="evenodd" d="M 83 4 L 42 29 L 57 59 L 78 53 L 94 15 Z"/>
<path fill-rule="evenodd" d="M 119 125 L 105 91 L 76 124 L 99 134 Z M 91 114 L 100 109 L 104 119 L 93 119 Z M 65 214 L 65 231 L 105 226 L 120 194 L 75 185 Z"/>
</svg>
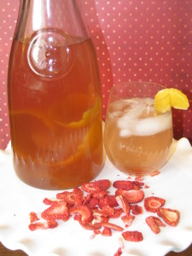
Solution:
<svg viewBox="0 0 192 256">
<path fill-rule="evenodd" d="M 20 0 L 9 57 L 15 172 L 39 189 L 69 189 L 103 167 L 96 52 L 75 0 Z"/>
</svg>

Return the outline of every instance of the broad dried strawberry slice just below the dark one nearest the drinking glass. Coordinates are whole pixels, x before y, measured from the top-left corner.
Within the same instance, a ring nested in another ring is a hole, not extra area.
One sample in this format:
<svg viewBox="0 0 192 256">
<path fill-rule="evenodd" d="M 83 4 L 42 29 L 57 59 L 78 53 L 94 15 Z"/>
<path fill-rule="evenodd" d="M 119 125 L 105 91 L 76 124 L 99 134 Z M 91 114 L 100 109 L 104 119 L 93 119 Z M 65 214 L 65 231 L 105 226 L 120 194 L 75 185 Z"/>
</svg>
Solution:
<svg viewBox="0 0 192 256">
<path fill-rule="evenodd" d="M 127 199 L 127 201 L 131 204 L 143 201 L 143 198 L 144 198 L 143 190 L 135 190 L 135 189 L 128 190 L 128 191 L 117 189 L 115 192 L 115 195 L 124 196 Z"/>
</svg>

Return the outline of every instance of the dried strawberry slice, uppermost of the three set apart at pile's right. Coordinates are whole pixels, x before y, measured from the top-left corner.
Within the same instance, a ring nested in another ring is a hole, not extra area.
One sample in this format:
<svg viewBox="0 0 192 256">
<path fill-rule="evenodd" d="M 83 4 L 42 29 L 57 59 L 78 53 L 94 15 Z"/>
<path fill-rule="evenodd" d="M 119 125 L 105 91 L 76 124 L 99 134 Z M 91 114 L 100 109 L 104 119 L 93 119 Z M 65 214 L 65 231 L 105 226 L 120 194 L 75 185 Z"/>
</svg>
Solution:
<svg viewBox="0 0 192 256">
<path fill-rule="evenodd" d="M 166 200 L 156 196 L 149 196 L 144 199 L 144 207 L 148 212 L 157 212 L 160 207 L 165 205 Z"/>
</svg>

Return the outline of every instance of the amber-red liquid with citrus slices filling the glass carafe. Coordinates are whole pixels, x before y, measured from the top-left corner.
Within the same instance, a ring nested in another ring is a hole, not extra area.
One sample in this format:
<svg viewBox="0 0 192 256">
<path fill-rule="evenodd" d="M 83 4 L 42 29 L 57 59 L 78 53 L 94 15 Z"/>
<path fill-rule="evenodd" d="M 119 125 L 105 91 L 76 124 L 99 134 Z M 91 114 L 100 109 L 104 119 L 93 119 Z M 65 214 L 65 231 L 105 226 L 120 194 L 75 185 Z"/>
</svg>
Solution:
<svg viewBox="0 0 192 256">
<path fill-rule="evenodd" d="M 93 45 L 90 40 L 69 45 L 68 67 L 51 76 L 47 62 L 42 69 L 37 66 L 42 57 L 39 54 L 44 55 L 43 60 L 47 55 L 58 60 L 61 53 L 66 55 L 66 46 L 55 45 L 51 54 L 50 47 L 48 52 L 38 51 L 33 61 L 37 61 L 41 75 L 32 69 L 32 61 L 29 63 L 30 47 L 29 42 L 15 41 L 9 61 L 15 172 L 25 183 L 40 189 L 79 186 L 95 178 L 103 166 L 102 102 Z"/>
</svg>

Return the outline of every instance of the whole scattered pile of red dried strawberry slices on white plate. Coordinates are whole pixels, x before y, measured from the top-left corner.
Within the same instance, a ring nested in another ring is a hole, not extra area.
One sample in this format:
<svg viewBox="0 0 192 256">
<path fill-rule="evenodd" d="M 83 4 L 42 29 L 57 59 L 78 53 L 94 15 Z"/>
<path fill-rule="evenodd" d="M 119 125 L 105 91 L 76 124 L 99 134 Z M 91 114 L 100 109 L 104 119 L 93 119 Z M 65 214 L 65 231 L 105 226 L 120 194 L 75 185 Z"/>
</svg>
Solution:
<svg viewBox="0 0 192 256">
<path fill-rule="evenodd" d="M 179 212 L 163 208 L 165 200 L 160 197 L 150 196 L 144 199 L 143 188 L 148 188 L 141 179 L 133 181 L 118 180 L 113 182 L 116 189 L 114 195 L 109 195 L 111 183 L 102 179 L 91 183 L 84 183 L 81 188 L 72 191 L 63 191 L 56 194 L 55 199 L 44 199 L 44 204 L 49 207 L 41 212 L 41 218 L 35 212 L 30 213 L 30 230 L 53 229 L 58 225 L 58 220 L 66 222 L 72 218 L 86 230 L 93 230 L 96 235 L 112 236 L 114 231 L 121 232 L 125 241 L 143 241 L 143 234 L 137 230 L 125 230 L 131 226 L 136 216 L 143 214 L 143 207 L 137 203 L 144 200 L 147 212 L 155 212 L 162 220 L 171 226 L 176 226 L 179 221 Z M 160 232 L 160 227 L 166 226 L 157 216 L 145 218 L 149 228 L 155 233 Z M 110 222 L 110 219 L 120 218 L 119 226 Z M 114 255 L 121 255 L 119 247 Z"/>
</svg>

